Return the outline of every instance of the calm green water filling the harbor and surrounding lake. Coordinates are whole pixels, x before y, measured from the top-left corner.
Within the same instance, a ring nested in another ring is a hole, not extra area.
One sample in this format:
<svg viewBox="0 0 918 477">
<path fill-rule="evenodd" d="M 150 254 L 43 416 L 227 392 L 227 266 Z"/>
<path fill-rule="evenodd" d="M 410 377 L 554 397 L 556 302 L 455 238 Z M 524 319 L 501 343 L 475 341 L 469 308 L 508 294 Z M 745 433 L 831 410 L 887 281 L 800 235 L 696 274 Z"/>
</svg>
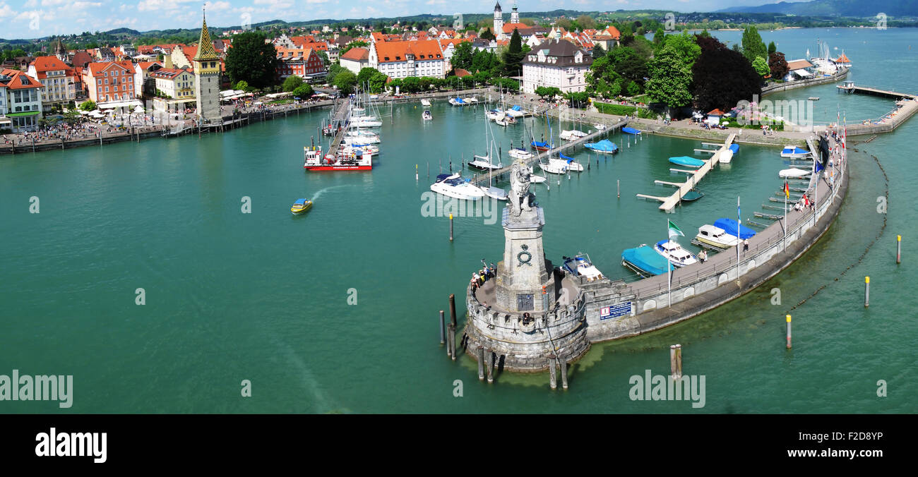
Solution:
<svg viewBox="0 0 918 477">
<path fill-rule="evenodd" d="M 724 32 L 737 41 L 741 32 Z M 857 84 L 918 93 L 918 32 L 792 29 L 763 32 L 789 60 L 815 39 L 854 62 Z M 891 101 L 835 93 L 835 84 L 767 99 L 806 99 L 817 121 L 849 122 Z M 97 148 L 0 157 L 0 374 L 73 374 L 73 407 L 0 402 L 0 413 L 880 413 L 915 412 L 912 342 L 918 240 L 911 195 L 918 180 L 918 118 L 855 147 L 851 186 L 829 232 L 778 277 L 728 305 L 649 335 L 594 345 L 552 392 L 547 373 L 479 382 L 475 361 L 450 361 L 438 312 L 480 259 L 497 262 L 503 229 L 486 217 L 422 216 L 433 177 L 484 149 L 484 110 L 438 100 L 381 113 L 383 144 L 372 172 L 304 172 L 302 148 L 327 111 L 225 134 L 150 139 Z M 491 128 L 504 151 L 532 128 Z M 561 128 L 572 128 L 562 124 Z M 553 124 L 554 133 L 558 125 Z M 750 131 L 754 133 L 754 131 Z M 748 132 L 747 132 L 748 133 Z M 747 134 L 744 133 L 744 134 Z M 318 138 L 317 138 L 318 139 Z M 666 219 L 687 236 L 715 219 L 762 211 L 781 186 L 775 148 L 741 145 L 728 167 L 700 183 L 706 195 L 674 214 L 634 194 L 664 195 L 681 181 L 670 156 L 700 141 L 612 134 L 610 158 L 577 149 L 588 171 L 552 176 L 532 191 L 545 211 L 544 246 L 588 252 L 611 278 L 632 280 L 621 250 L 666 238 Z M 627 142 L 631 140 L 631 143 Z M 864 140 L 867 138 L 856 138 Z M 878 213 L 889 177 L 889 213 Z M 598 162 L 599 161 L 599 162 Z M 415 178 L 415 165 L 420 177 Z M 428 172 L 428 167 L 430 172 Z M 428 176 L 428 173 L 430 174 Z M 466 175 L 474 173 L 465 169 Z M 560 184 L 558 183 L 560 181 Z M 621 181 L 621 198 L 616 197 Z M 507 184 L 500 184 L 507 186 Z M 30 197 L 40 213 L 29 213 Z M 251 213 L 241 211 L 243 197 Z M 291 216 L 311 198 L 313 210 Z M 767 221 L 765 219 L 759 219 Z M 885 229 L 879 240 L 881 228 Z M 895 238 L 903 261 L 895 263 Z M 691 250 L 689 239 L 682 239 Z M 863 260 L 859 260 L 862 254 Z M 843 274 L 844 273 L 844 274 Z M 871 277 L 865 309 L 864 276 Z M 784 316 L 793 310 L 793 349 Z M 145 305 L 135 304 L 143 288 Z M 778 288 L 781 305 L 772 305 Z M 448 313 L 448 312 L 447 312 Z M 669 372 L 681 343 L 684 373 L 706 377 L 706 403 L 633 401 L 632 375 Z M 241 382 L 252 396 L 241 396 Z M 459 380 L 461 384 L 456 383 Z M 878 381 L 888 397 L 878 397 Z M 462 396 L 454 395 L 457 385 Z"/>
</svg>

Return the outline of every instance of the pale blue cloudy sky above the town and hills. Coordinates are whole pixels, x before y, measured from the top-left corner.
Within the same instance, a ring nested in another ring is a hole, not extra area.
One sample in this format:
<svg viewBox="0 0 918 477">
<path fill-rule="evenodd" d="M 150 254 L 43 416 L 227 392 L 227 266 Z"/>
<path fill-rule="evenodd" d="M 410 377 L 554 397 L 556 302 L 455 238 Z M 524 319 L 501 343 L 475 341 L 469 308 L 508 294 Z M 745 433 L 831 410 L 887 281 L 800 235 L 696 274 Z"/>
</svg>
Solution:
<svg viewBox="0 0 918 477">
<path fill-rule="evenodd" d="M 316 18 L 399 17 L 459 13 L 455 0 L 0 0 L 0 38 L 35 39 L 84 31 L 133 28 L 196 28 L 201 7 L 207 24 L 230 27 L 267 20 L 304 21 Z M 520 11 L 570 8 L 582 11 L 668 9 L 714 11 L 727 6 L 763 5 L 776 0 L 521 0 Z M 461 13 L 490 13 L 494 0 L 461 2 Z M 501 5 L 509 18 L 512 0 Z"/>
</svg>

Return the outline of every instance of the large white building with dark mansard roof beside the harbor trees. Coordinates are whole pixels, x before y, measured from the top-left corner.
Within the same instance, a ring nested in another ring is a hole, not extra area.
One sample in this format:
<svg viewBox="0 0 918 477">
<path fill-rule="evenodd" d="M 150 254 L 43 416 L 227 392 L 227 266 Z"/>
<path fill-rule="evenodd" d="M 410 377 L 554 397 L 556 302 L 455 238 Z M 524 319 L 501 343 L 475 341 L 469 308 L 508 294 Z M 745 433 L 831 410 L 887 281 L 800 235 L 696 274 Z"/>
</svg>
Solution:
<svg viewBox="0 0 918 477">
<path fill-rule="evenodd" d="M 523 58 L 521 88 L 529 94 L 540 86 L 554 86 L 562 93 L 586 91 L 592 63 L 593 57 L 574 43 L 547 39 Z"/>
</svg>

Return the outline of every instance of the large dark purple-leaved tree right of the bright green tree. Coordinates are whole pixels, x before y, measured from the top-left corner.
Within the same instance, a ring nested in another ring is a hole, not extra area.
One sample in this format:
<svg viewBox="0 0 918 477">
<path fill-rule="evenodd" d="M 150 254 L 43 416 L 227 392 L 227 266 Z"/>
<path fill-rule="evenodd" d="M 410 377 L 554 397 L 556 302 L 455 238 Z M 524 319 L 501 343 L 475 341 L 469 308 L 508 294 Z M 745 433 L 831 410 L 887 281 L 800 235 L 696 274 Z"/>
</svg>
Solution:
<svg viewBox="0 0 918 477">
<path fill-rule="evenodd" d="M 754 95 L 762 93 L 762 77 L 738 51 L 704 51 L 695 61 L 692 75 L 695 105 L 702 111 L 728 111 L 740 101 L 753 101 Z"/>
</svg>

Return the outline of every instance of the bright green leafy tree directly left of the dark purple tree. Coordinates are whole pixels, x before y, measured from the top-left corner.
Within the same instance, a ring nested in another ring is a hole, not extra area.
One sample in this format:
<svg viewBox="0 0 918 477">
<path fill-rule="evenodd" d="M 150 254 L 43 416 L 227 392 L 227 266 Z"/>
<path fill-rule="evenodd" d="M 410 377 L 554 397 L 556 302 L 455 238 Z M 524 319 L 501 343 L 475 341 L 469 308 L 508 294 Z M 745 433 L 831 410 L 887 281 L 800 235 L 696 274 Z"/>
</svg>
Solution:
<svg viewBox="0 0 918 477">
<path fill-rule="evenodd" d="M 652 101 L 668 107 L 684 106 L 691 102 L 691 66 L 675 48 L 667 45 L 660 50 L 653 60 L 647 62 L 647 70 L 650 79 L 644 85 L 644 91 Z"/>
</svg>

